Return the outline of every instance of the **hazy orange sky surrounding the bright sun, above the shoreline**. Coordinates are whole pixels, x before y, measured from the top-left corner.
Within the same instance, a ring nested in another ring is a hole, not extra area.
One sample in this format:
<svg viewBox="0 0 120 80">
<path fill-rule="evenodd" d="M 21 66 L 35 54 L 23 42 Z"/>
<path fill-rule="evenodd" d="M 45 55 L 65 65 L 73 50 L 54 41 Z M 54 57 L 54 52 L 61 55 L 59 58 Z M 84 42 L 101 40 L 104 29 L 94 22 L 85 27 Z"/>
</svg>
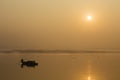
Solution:
<svg viewBox="0 0 120 80">
<path fill-rule="evenodd" d="M 119 0 L 0 0 L 0 49 L 120 49 Z M 91 21 L 86 16 L 91 15 Z"/>
</svg>

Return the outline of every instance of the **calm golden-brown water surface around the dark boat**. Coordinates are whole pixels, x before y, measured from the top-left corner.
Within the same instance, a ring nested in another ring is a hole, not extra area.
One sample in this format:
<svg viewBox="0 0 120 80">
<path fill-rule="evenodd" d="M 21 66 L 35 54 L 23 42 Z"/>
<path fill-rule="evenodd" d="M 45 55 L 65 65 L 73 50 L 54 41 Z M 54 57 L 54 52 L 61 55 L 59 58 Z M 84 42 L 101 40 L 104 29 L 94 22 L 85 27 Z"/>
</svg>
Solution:
<svg viewBox="0 0 120 80">
<path fill-rule="evenodd" d="M 21 68 L 22 58 L 39 65 Z M 120 80 L 120 53 L 1 53 L 0 80 Z"/>
</svg>

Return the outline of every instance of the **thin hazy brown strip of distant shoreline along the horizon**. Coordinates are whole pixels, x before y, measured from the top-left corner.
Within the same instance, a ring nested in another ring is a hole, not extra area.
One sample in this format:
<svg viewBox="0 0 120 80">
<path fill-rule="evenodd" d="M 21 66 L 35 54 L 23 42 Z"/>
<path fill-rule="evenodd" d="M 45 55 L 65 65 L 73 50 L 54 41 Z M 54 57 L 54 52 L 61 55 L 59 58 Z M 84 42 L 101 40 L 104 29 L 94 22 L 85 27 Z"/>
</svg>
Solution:
<svg viewBox="0 0 120 80">
<path fill-rule="evenodd" d="M 0 53 L 120 53 L 108 50 L 0 50 Z"/>
</svg>

